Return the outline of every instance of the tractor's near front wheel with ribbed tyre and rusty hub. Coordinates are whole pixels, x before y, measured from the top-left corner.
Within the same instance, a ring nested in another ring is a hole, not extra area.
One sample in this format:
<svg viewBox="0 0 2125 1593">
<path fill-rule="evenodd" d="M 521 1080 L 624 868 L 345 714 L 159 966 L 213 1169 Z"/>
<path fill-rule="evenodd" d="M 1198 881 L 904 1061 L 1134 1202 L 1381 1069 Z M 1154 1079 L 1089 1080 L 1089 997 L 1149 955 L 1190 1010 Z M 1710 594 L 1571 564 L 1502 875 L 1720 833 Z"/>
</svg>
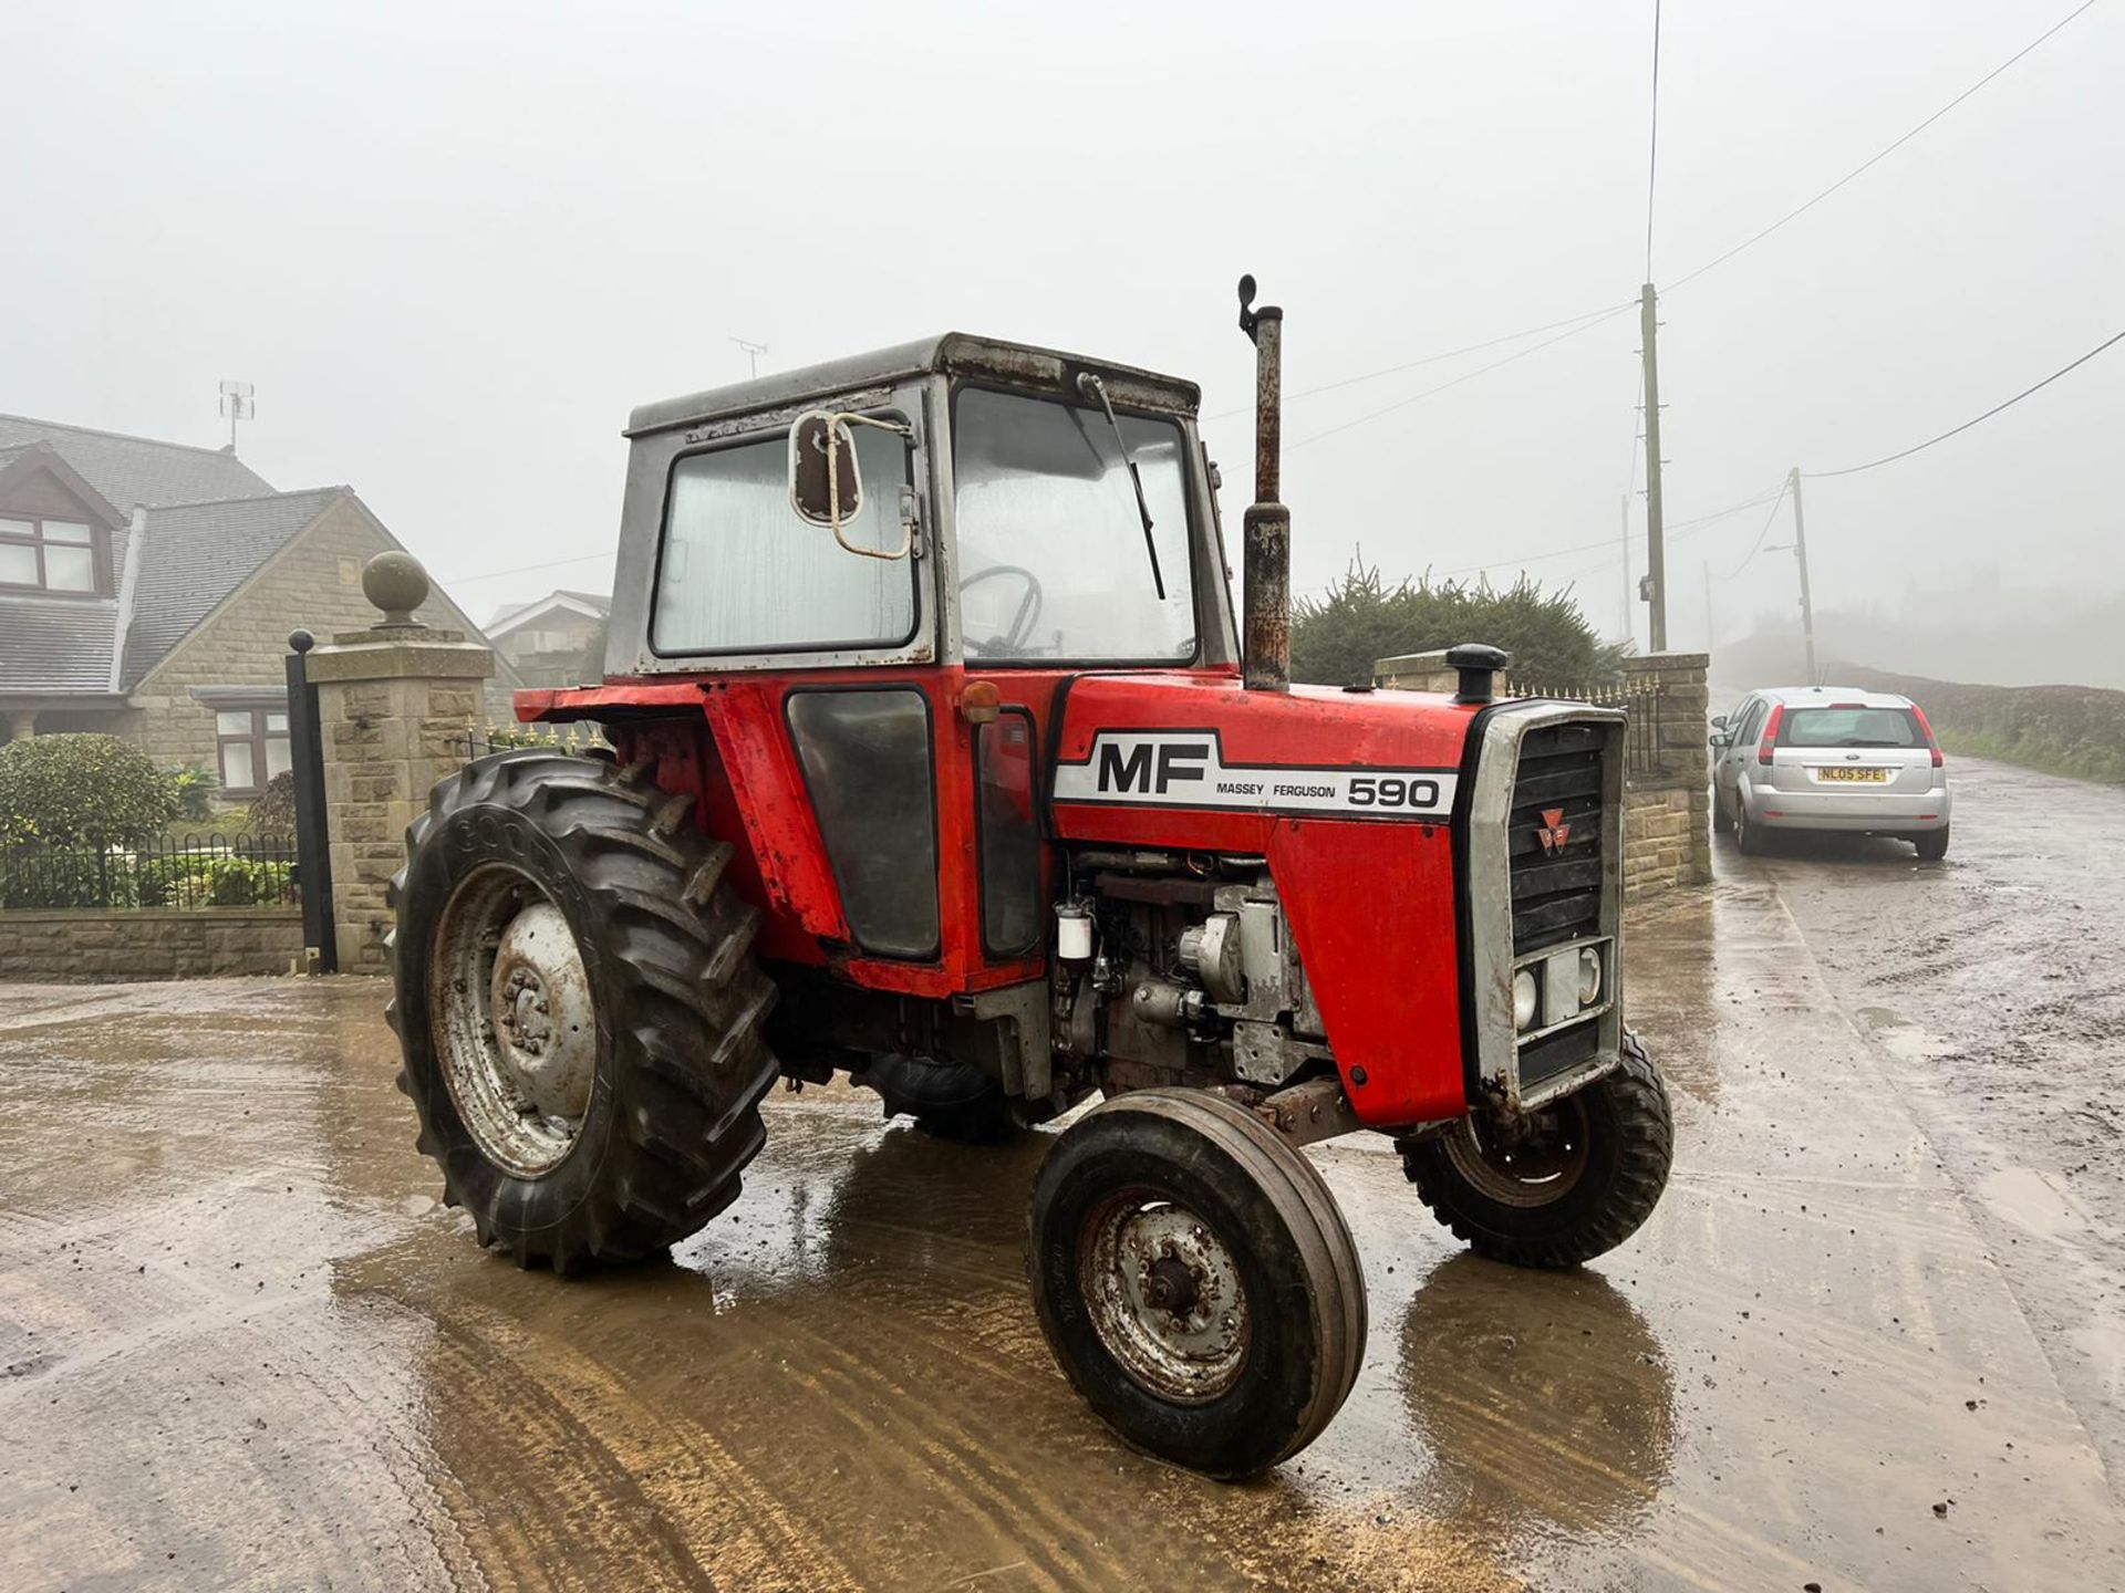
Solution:
<svg viewBox="0 0 2125 1593">
<path fill-rule="evenodd" d="M 1252 1476 L 1313 1442 L 1358 1378 L 1364 1274 L 1343 1213 L 1222 1096 L 1094 1107 L 1041 1164 L 1031 1230 L 1048 1344 L 1135 1449 Z"/>
</svg>

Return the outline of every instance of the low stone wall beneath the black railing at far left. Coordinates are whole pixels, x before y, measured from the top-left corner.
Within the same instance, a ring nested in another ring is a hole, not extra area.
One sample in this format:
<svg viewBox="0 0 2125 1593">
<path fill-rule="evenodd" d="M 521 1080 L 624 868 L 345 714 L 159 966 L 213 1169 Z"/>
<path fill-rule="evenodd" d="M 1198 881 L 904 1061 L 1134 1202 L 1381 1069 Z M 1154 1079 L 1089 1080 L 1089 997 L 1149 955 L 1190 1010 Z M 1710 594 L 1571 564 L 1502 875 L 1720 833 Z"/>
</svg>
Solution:
<svg viewBox="0 0 2125 1593">
<path fill-rule="evenodd" d="M 302 909 L 0 913 L 0 979 L 68 983 L 289 973 L 302 962 Z"/>
</svg>

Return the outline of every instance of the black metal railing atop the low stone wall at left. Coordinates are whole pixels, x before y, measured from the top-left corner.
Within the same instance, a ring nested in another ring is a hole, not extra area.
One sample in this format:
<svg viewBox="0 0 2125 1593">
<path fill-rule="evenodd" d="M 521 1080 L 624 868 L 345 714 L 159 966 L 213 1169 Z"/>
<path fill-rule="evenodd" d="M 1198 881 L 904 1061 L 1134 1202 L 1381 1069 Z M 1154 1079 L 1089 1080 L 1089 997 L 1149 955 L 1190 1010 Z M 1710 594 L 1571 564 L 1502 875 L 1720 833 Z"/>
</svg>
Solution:
<svg viewBox="0 0 2125 1593">
<path fill-rule="evenodd" d="M 300 901 L 293 835 L 157 837 L 138 845 L 0 845 L 0 909 L 285 907 Z"/>
</svg>

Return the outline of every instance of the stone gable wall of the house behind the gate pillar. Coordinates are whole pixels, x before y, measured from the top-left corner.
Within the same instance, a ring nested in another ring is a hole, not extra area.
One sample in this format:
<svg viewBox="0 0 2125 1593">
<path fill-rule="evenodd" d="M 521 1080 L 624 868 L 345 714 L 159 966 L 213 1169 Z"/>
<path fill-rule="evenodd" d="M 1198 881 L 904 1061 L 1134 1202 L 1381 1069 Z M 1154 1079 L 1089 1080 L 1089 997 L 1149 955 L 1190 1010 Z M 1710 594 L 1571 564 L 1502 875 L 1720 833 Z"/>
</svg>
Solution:
<svg viewBox="0 0 2125 1593">
<path fill-rule="evenodd" d="M 159 765 L 217 767 L 215 705 L 191 695 L 193 686 L 257 686 L 259 697 L 287 690 L 287 633 L 298 627 L 327 637 L 376 620 L 361 595 L 361 567 L 391 539 L 353 495 L 336 497 L 323 514 L 268 561 L 227 607 L 193 631 L 132 695 L 125 735 Z M 416 618 L 457 624 L 457 610 L 429 597 Z M 512 722 L 510 690 L 491 682 L 480 703 L 482 720 Z"/>
</svg>

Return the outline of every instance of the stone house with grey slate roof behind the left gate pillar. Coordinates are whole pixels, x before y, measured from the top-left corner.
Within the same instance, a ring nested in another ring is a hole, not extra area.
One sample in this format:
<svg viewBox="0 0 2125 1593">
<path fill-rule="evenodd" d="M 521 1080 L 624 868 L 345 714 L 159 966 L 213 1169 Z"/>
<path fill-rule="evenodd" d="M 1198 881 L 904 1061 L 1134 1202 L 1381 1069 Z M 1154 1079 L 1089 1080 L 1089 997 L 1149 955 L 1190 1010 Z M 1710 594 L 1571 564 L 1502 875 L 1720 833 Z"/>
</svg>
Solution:
<svg viewBox="0 0 2125 1593">
<path fill-rule="evenodd" d="M 361 565 L 397 546 L 351 486 L 0 414 L 0 741 L 119 735 L 244 803 L 289 760 L 289 631 L 372 624 Z M 440 590 L 419 618 L 480 635 Z M 489 718 L 516 684 L 497 669 Z"/>
</svg>

